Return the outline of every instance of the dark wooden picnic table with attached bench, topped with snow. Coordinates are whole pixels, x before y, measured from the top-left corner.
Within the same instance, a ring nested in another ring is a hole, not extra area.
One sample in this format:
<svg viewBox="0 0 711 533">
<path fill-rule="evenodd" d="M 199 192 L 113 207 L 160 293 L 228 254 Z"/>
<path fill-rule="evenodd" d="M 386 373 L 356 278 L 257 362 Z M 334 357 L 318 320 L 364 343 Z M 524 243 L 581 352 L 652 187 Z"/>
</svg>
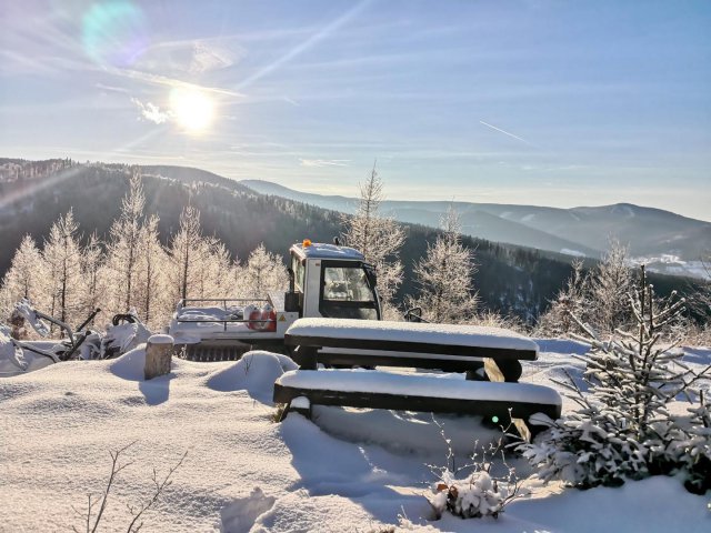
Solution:
<svg viewBox="0 0 711 533">
<path fill-rule="evenodd" d="M 517 383 L 520 360 L 534 360 L 538 345 L 495 328 L 447 324 L 300 319 L 287 330 L 300 370 L 274 384 L 274 402 L 296 401 L 310 415 L 312 404 L 479 414 L 528 421 L 542 412 L 560 416 L 557 391 Z M 318 363 L 349 366 L 414 366 L 472 372 L 482 365 L 490 382 L 445 380 L 387 372 L 319 371 Z M 518 368 L 517 368 L 518 365 Z M 504 372 L 502 372 L 502 368 Z M 513 369 L 513 370 L 512 370 Z M 508 371 L 508 374 L 505 373 Z M 504 381 L 509 381 L 504 383 Z M 514 420 L 514 422 L 515 422 Z M 525 426 L 517 423 L 519 432 Z"/>
</svg>

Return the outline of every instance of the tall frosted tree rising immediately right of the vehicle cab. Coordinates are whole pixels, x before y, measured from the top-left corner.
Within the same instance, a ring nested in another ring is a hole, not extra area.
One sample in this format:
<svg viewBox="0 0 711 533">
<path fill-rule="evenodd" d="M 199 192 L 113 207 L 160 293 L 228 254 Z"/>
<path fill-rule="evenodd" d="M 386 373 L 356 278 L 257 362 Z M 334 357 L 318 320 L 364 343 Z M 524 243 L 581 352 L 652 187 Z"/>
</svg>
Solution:
<svg viewBox="0 0 711 533">
<path fill-rule="evenodd" d="M 382 180 L 373 167 L 370 177 L 360 185 L 360 200 L 354 215 L 343 215 L 346 244 L 359 250 L 378 272 L 378 293 L 387 319 L 399 316 L 393 298 L 402 283 L 402 263 L 398 253 L 404 242 L 404 231 L 392 219 L 383 217 Z"/>
</svg>

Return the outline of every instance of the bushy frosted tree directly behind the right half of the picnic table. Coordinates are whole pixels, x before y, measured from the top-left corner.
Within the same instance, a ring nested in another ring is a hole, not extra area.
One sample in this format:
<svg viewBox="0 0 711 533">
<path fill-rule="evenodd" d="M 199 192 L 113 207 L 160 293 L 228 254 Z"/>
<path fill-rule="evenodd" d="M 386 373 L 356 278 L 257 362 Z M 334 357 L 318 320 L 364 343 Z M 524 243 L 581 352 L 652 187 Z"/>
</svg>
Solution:
<svg viewBox="0 0 711 533">
<path fill-rule="evenodd" d="M 461 242 L 458 213 L 450 208 L 442 219 L 442 232 L 427 254 L 414 266 L 420 286 L 409 305 L 422 308 L 422 318 L 430 322 L 462 323 L 477 311 L 478 296 L 473 289 L 474 258 Z"/>
</svg>

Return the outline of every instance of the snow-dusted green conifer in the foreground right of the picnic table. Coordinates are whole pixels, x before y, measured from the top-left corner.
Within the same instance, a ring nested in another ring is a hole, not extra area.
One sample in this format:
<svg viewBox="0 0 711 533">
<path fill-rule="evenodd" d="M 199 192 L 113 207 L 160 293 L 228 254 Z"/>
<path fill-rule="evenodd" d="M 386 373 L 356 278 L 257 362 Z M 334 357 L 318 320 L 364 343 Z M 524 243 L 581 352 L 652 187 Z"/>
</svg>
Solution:
<svg viewBox="0 0 711 533">
<path fill-rule="evenodd" d="M 673 343 L 658 345 L 682 319 L 683 300 L 675 294 L 655 299 L 643 268 L 630 310 L 634 329 L 618 330 L 605 342 L 579 322 L 592 346 L 580 358 L 587 362 L 589 391 L 583 393 L 570 375 L 559 383 L 579 408 L 549 421 L 547 432 L 520 447 L 544 481 L 558 477 L 590 487 L 682 473 L 687 489 L 704 492 L 711 487 L 711 418 L 697 385 L 711 376 L 711 366 L 697 372 Z M 687 415 L 670 414 L 670 403 L 681 399 L 693 406 Z"/>
</svg>

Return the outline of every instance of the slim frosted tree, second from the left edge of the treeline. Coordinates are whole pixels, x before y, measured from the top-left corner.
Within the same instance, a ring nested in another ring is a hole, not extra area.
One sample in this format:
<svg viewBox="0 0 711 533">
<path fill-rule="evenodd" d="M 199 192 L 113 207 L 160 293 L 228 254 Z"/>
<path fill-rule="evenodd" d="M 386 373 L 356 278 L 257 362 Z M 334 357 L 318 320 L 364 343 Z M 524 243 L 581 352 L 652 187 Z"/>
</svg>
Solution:
<svg viewBox="0 0 711 533">
<path fill-rule="evenodd" d="M 43 278 L 42 291 L 48 301 L 37 303 L 49 303 L 50 314 L 62 322 L 82 321 L 79 318 L 79 313 L 83 311 L 81 244 L 79 224 L 74 221 L 72 211 L 52 224 L 42 248 L 42 259 L 48 273 Z"/>
</svg>

